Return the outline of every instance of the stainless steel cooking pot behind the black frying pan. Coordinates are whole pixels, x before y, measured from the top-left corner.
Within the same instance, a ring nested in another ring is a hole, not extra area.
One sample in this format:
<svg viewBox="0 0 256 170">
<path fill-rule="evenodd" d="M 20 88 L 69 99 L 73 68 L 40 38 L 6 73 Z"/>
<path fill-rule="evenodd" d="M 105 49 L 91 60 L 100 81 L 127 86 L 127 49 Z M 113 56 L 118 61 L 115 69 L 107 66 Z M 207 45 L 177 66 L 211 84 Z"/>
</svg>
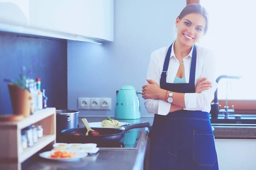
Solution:
<svg viewBox="0 0 256 170">
<path fill-rule="evenodd" d="M 79 128 L 79 111 L 74 110 L 56 110 L 56 142 L 60 140 L 61 130 Z"/>
</svg>

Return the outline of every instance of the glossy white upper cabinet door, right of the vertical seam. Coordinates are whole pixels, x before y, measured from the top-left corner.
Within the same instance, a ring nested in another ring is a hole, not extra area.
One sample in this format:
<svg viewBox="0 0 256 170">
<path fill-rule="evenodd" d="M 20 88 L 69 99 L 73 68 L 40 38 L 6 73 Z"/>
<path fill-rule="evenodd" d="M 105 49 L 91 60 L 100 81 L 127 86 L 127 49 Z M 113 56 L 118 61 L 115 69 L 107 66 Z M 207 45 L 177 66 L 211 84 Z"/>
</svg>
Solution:
<svg viewBox="0 0 256 170">
<path fill-rule="evenodd" d="M 113 0 L 31 0 L 30 25 L 113 41 Z"/>
</svg>

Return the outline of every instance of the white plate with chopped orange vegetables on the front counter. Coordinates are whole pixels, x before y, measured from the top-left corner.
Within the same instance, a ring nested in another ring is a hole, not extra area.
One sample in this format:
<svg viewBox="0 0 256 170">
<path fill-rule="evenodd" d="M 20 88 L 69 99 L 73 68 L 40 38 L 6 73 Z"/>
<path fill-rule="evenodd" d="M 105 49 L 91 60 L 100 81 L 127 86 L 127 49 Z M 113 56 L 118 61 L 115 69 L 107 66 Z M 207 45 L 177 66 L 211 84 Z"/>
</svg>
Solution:
<svg viewBox="0 0 256 170">
<path fill-rule="evenodd" d="M 40 153 L 39 156 L 44 158 L 44 159 L 50 159 L 50 160 L 55 160 L 55 161 L 75 161 L 77 159 L 83 158 L 88 155 L 87 152 L 81 151 L 81 150 L 67 150 L 67 152 L 76 152 L 76 155 L 72 158 L 49 158 L 51 156 L 51 153 L 54 153 L 55 150 L 47 151 Z"/>
</svg>

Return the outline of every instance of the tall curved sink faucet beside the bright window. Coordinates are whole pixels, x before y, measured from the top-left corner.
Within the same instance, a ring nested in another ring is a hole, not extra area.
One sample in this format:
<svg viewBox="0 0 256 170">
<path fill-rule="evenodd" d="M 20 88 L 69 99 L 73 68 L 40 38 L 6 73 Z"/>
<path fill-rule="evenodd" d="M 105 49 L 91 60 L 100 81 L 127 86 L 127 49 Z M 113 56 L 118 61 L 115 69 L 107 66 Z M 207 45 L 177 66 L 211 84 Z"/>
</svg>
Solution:
<svg viewBox="0 0 256 170">
<path fill-rule="evenodd" d="M 216 82 L 218 83 L 220 79 L 241 79 L 241 76 L 229 76 L 229 75 L 220 75 L 217 79 Z M 227 93 L 227 92 L 226 92 Z M 227 95 L 226 95 L 226 105 L 224 106 L 224 109 L 221 109 L 221 105 L 218 103 L 218 88 L 216 89 L 214 93 L 214 100 L 213 103 L 211 103 L 211 116 L 212 118 L 218 118 L 218 113 L 224 113 L 224 117 L 228 118 L 229 113 L 234 113 L 234 105 L 232 105 L 232 109 L 229 109 L 227 106 Z"/>
</svg>

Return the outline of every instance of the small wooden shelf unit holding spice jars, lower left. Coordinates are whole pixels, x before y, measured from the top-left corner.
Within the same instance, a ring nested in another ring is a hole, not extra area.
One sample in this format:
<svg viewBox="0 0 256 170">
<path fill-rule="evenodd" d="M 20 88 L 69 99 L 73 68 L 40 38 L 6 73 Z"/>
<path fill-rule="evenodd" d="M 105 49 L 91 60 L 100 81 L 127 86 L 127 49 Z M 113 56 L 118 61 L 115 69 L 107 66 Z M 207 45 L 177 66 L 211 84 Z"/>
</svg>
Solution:
<svg viewBox="0 0 256 170">
<path fill-rule="evenodd" d="M 30 125 L 42 125 L 44 135 L 32 147 L 23 150 L 21 130 Z M 56 109 L 35 111 L 33 115 L 20 122 L 0 122 L 0 136 L 4 136 L 0 139 L 0 170 L 20 170 L 22 162 L 55 143 Z"/>
</svg>

